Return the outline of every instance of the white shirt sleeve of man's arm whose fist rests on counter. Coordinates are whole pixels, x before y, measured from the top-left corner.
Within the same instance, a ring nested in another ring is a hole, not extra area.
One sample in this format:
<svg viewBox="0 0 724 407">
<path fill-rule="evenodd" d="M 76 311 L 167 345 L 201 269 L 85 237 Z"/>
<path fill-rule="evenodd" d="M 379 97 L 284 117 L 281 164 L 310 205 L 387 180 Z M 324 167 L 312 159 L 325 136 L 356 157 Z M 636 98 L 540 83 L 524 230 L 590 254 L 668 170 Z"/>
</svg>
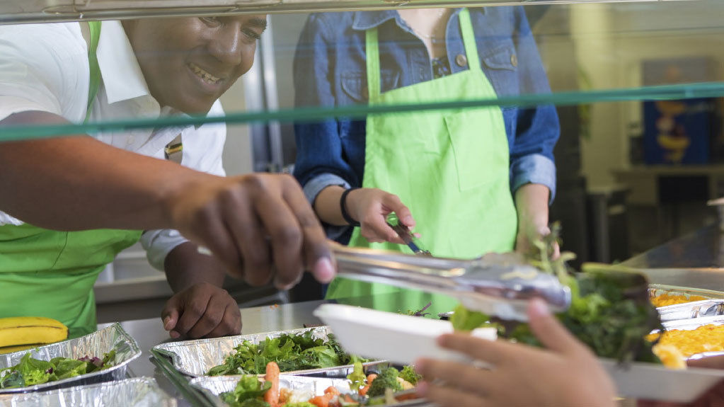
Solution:
<svg viewBox="0 0 724 407">
<path fill-rule="evenodd" d="M 223 116 L 221 103 L 216 101 L 209 116 Z M 202 125 L 198 129 L 190 127 L 182 132 L 183 156 L 181 164 L 201 172 L 224 177 L 222 154 L 226 140 L 224 123 Z M 177 230 L 146 230 L 140 237 L 140 243 L 146 249 L 148 263 L 156 269 L 164 270 L 166 256 L 182 243 L 188 242 Z"/>
</svg>

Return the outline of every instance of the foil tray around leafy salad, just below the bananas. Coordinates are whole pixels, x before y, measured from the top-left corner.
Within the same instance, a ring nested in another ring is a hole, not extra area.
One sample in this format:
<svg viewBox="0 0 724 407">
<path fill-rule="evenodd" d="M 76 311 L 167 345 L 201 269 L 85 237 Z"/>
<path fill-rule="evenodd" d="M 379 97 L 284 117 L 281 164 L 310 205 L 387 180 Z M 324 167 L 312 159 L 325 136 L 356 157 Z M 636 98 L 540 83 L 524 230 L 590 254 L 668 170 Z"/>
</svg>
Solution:
<svg viewBox="0 0 724 407">
<path fill-rule="evenodd" d="M 128 333 L 123 330 L 120 324 L 115 323 L 102 330 L 98 330 L 83 337 L 71 340 L 64 340 L 59 343 L 40 346 L 27 351 L 19 351 L 0 355 L 0 370 L 16 365 L 25 353 L 36 359 L 49 361 L 51 358 L 63 356 L 65 358 L 82 358 L 83 356 L 101 357 L 104 353 L 116 350 L 116 364 L 109 369 L 100 370 L 70 379 L 57 380 L 55 382 L 43 383 L 42 385 L 21 387 L 19 389 L 0 389 L 0 395 L 4 393 L 25 393 L 38 390 L 52 390 L 62 387 L 78 385 L 90 385 L 93 383 L 110 382 L 125 377 L 126 366 L 135 358 L 140 356 L 138 344 Z"/>
</svg>

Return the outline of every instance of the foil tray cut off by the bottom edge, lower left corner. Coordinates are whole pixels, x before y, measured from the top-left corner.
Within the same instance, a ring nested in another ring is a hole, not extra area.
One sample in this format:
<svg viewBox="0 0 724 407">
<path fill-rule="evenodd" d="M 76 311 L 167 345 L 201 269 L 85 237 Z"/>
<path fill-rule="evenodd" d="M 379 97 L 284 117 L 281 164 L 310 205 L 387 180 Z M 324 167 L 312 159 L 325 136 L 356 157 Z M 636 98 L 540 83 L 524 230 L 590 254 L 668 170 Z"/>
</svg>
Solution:
<svg viewBox="0 0 724 407">
<path fill-rule="evenodd" d="M 36 393 L 0 395 L 0 407 L 175 407 L 176 400 L 164 393 L 150 377 L 96 383 Z"/>
</svg>

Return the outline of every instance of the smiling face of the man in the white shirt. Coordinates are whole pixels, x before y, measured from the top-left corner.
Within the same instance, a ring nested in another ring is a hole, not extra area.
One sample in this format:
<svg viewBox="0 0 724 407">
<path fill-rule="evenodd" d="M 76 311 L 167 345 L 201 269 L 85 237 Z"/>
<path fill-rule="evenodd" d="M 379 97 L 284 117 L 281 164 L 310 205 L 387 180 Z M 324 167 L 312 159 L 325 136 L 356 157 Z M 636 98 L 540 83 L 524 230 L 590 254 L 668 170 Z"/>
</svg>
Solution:
<svg viewBox="0 0 724 407">
<path fill-rule="evenodd" d="M 266 17 L 130 20 L 123 28 L 156 100 L 206 114 L 251 69 Z"/>
</svg>

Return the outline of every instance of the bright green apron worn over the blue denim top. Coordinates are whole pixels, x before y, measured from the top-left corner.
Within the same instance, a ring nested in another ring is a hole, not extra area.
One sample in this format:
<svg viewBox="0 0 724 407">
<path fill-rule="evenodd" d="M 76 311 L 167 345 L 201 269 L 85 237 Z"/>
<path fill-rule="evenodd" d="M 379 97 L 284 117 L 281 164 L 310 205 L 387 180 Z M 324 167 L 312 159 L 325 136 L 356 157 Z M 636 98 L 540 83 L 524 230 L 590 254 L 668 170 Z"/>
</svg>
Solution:
<svg viewBox="0 0 724 407">
<path fill-rule="evenodd" d="M 497 97 L 480 67 L 467 9 L 460 29 L 469 70 L 380 93 L 377 30 L 366 33 L 370 104 L 413 104 Z M 421 244 L 434 256 L 471 259 L 513 249 L 518 220 L 510 193 L 508 139 L 498 107 L 409 114 L 370 115 L 366 122 L 363 188 L 400 197 L 416 220 Z M 355 228 L 350 246 L 410 250 L 394 243 L 369 243 Z M 397 295 L 384 295 L 397 293 Z M 337 278 L 327 298 L 377 295 L 374 308 L 450 311 L 444 295 Z"/>
</svg>

